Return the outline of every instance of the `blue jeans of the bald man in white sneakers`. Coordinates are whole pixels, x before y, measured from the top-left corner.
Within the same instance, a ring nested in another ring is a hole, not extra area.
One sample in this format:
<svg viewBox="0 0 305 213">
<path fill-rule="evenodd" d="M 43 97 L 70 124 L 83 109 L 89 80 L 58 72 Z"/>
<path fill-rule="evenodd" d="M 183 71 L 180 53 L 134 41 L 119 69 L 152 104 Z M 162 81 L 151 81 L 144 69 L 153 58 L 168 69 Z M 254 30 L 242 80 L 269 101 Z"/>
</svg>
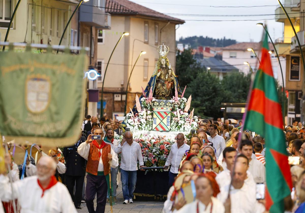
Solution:
<svg viewBox="0 0 305 213">
<path fill-rule="evenodd" d="M 135 183 L 137 182 L 137 171 L 126 171 L 121 169 L 121 181 L 124 200 L 133 199 Z"/>
</svg>

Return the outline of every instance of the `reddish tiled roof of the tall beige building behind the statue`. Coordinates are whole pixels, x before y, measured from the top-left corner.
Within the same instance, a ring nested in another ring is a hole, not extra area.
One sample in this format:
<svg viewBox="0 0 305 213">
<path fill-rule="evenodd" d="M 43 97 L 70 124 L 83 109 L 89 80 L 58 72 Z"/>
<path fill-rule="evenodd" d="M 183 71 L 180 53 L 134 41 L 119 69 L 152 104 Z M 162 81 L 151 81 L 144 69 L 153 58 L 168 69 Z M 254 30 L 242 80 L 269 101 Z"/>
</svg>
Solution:
<svg viewBox="0 0 305 213">
<path fill-rule="evenodd" d="M 149 9 L 142 5 L 138 5 L 128 0 L 106 0 L 105 12 L 110 14 L 148 16 L 151 18 L 173 21 L 178 24 L 185 23 L 184 20 L 164 15 L 163 13 Z"/>
</svg>

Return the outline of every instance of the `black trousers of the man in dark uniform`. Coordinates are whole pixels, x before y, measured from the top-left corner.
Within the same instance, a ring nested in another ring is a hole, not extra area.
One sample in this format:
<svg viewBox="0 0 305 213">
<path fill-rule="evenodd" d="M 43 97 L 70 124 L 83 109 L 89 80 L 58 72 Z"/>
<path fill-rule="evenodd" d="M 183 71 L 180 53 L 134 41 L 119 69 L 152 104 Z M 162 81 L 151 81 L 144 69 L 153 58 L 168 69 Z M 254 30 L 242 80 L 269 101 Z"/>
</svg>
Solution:
<svg viewBox="0 0 305 213">
<path fill-rule="evenodd" d="M 81 205 L 81 197 L 83 194 L 83 183 L 85 176 L 71 176 L 66 175 L 66 186 L 71 195 L 72 200 L 74 201 L 75 206 Z M 74 194 L 74 185 L 75 185 L 75 194 Z"/>
</svg>

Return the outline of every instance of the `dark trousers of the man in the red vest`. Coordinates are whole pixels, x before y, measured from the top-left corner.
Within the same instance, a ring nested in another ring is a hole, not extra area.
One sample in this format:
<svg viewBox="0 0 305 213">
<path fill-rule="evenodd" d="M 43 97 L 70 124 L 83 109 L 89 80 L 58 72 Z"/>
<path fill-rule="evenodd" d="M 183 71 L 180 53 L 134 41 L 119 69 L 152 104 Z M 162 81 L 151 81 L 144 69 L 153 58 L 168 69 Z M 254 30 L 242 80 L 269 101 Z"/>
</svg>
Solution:
<svg viewBox="0 0 305 213">
<path fill-rule="evenodd" d="M 87 175 L 87 185 L 85 190 L 86 205 L 89 213 L 104 213 L 107 197 L 107 181 L 103 175 Z M 94 210 L 93 200 L 96 194 L 96 210 Z"/>
</svg>

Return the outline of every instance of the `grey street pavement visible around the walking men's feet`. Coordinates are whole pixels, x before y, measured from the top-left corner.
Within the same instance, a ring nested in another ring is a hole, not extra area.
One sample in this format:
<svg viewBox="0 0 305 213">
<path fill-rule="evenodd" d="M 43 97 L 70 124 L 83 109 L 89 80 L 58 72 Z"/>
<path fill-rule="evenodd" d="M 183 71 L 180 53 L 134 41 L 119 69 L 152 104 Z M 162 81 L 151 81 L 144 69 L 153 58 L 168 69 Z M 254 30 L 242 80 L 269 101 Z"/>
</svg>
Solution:
<svg viewBox="0 0 305 213">
<path fill-rule="evenodd" d="M 117 202 L 113 205 L 112 209 L 114 213 L 158 213 L 162 212 L 163 202 L 153 201 L 137 201 L 134 200 L 133 204 L 123 204 L 123 192 L 122 185 L 119 184 L 117 188 Z M 94 201 L 94 207 L 96 208 L 96 197 Z M 78 213 L 88 213 L 88 209 L 85 203 L 81 204 L 81 209 L 77 209 Z M 110 205 L 106 203 L 105 213 L 110 213 Z M 97 212 L 98 213 L 98 212 Z"/>
</svg>

